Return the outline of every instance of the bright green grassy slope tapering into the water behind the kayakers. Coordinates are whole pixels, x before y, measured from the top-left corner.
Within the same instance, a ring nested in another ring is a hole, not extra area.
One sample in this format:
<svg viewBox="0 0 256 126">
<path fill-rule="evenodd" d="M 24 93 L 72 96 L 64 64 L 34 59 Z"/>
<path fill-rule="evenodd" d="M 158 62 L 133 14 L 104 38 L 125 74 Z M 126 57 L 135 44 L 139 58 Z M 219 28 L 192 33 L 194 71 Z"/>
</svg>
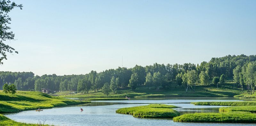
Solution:
<svg viewBox="0 0 256 126">
<path fill-rule="evenodd" d="M 0 113 L 20 112 L 89 102 L 50 96 L 36 91 L 17 91 L 13 95 L 0 91 Z"/>
</svg>

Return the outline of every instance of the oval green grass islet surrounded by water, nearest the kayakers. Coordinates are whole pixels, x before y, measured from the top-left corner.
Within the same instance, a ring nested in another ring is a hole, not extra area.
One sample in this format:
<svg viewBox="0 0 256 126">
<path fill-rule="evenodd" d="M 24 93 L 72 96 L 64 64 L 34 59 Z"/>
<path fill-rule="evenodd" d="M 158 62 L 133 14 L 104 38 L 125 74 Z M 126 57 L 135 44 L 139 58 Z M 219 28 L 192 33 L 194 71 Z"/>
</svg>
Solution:
<svg viewBox="0 0 256 126">
<path fill-rule="evenodd" d="M 141 118 L 173 118 L 179 116 L 180 113 L 171 109 L 177 106 L 150 104 L 147 106 L 127 107 L 116 110 L 120 114 L 132 114 L 133 117 Z"/>
</svg>

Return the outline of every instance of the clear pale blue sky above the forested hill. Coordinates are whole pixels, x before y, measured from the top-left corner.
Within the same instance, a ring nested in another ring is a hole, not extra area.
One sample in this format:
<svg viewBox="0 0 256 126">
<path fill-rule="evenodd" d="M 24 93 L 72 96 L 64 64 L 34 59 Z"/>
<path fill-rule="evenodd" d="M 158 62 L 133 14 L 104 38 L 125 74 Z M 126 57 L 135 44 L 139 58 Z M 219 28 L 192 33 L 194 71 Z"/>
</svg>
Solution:
<svg viewBox="0 0 256 126">
<path fill-rule="evenodd" d="M 86 74 L 256 54 L 256 1 L 15 0 L 1 71 Z"/>
</svg>

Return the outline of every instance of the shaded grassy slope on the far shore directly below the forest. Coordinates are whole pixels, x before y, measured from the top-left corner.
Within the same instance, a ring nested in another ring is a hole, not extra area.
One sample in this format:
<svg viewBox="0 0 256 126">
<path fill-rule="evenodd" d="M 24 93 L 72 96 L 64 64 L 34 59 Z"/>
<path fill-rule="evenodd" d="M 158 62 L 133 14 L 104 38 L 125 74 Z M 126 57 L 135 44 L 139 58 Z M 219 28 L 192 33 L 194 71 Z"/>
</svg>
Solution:
<svg viewBox="0 0 256 126">
<path fill-rule="evenodd" d="M 156 90 L 155 87 L 151 87 L 149 90 L 147 87 L 137 88 L 136 90 L 118 90 L 116 93 L 111 92 L 108 96 L 104 95 L 101 91 L 90 92 L 87 94 L 77 93 L 75 95 L 61 95 L 60 97 L 78 97 L 78 98 L 125 98 L 127 97 L 233 97 L 242 93 L 241 89 L 233 88 L 232 83 L 226 83 L 219 85 L 217 89 L 216 85 L 209 86 L 196 86 L 194 91 L 185 91 L 184 87 L 173 86 L 171 89 Z M 67 93 L 67 92 L 63 92 Z M 63 94 L 57 92 L 57 94 Z M 54 94 L 53 94 L 54 95 Z"/>
</svg>

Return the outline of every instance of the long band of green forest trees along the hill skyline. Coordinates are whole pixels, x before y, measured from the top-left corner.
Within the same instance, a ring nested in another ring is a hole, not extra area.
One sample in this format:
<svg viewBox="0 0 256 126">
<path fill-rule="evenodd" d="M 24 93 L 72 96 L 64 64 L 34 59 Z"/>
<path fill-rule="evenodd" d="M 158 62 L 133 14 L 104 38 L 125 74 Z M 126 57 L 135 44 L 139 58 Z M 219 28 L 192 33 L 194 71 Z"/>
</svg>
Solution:
<svg viewBox="0 0 256 126">
<path fill-rule="evenodd" d="M 32 72 L 0 72 L 0 87 L 5 83 L 13 83 L 17 90 L 41 91 L 48 88 L 52 91 L 99 91 L 104 85 L 111 91 L 130 87 L 135 90 L 142 85 L 168 90 L 171 84 L 184 86 L 184 91 L 195 91 L 195 85 L 209 85 L 211 82 L 223 84 L 225 78 L 233 78 L 237 86 L 254 90 L 256 85 L 256 55 L 228 55 L 212 58 L 209 62 L 200 64 L 153 64 L 149 66 L 136 65 L 133 68 L 118 67 L 97 73 L 91 71 L 85 75 L 34 75 Z"/>
</svg>

